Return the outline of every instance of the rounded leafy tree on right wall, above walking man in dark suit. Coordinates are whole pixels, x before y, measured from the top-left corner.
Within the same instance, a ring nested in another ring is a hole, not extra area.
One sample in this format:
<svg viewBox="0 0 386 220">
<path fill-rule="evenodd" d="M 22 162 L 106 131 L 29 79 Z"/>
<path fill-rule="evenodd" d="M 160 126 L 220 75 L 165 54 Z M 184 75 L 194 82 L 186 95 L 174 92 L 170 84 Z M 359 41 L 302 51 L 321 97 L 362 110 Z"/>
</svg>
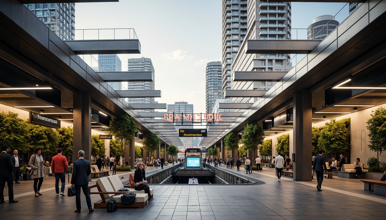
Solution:
<svg viewBox="0 0 386 220">
<path fill-rule="evenodd" d="M 348 129 L 350 119 L 336 121 L 331 119 L 326 123 L 326 126 L 320 131 L 318 146 L 325 153 L 333 153 L 350 150 L 350 131 Z"/>
</svg>

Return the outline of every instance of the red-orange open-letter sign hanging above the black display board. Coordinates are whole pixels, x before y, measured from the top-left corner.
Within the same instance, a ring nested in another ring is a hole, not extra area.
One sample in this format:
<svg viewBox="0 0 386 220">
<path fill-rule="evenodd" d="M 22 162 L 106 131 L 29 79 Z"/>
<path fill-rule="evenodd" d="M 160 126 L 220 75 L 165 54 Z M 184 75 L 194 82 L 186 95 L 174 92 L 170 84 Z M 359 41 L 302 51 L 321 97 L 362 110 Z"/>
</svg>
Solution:
<svg viewBox="0 0 386 220">
<path fill-rule="evenodd" d="M 222 121 L 222 114 L 181 114 L 181 113 L 170 113 L 164 114 L 164 122 L 215 122 Z"/>
</svg>

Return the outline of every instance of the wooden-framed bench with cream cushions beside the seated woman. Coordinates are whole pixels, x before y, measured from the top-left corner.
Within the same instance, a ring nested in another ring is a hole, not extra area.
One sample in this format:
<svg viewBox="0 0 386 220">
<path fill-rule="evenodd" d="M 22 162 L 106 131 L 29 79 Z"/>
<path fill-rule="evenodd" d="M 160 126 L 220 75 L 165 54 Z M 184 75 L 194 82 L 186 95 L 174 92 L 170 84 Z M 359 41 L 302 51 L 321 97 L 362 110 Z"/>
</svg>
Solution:
<svg viewBox="0 0 386 220">
<path fill-rule="evenodd" d="M 98 192 L 91 191 L 91 189 L 95 187 L 97 187 Z M 147 205 L 147 200 L 149 199 L 147 193 L 137 193 L 137 195 L 135 196 L 134 203 L 127 205 L 122 204 L 121 196 L 122 194 L 125 194 L 127 192 L 115 191 L 108 177 L 98 179 L 96 185 L 88 187 L 88 191 L 90 192 L 90 194 L 99 194 L 101 197 L 101 200 L 99 202 L 94 203 L 94 208 L 107 208 L 107 202 L 111 198 L 116 200 L 118 208 L 145 208 L 145 206 Z"/>
</svg>

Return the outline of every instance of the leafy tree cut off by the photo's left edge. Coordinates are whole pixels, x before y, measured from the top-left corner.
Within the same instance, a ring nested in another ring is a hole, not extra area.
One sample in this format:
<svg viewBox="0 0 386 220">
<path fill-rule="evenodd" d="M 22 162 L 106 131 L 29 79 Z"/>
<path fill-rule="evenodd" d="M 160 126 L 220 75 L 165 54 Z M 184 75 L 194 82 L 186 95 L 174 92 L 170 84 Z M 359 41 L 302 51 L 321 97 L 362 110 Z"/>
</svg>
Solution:
<svg viewBox="0 0 386 220">
<path fill-rule="evenodd" d="M 0 141 L 2 144 L 7 144 L 11 151 L 17 149 L 27 153 L 30 149 L 28 143 L 29 127 L 27 121 L 18 118 L 19 114 L 8 112 L 0 113 Z"/>
</svg>

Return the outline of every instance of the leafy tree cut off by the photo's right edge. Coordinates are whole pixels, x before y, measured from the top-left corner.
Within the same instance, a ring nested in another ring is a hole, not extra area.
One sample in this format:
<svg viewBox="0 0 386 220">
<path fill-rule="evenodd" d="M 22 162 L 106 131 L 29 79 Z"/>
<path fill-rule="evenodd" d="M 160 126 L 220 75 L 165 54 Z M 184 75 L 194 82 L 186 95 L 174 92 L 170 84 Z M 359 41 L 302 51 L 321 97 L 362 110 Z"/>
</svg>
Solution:
<svg viewBox="0 0 386 220">
<path fill-rule="evenodd" d="M 382 151 L 386 151 L 386 108 L 379 107 L 372 111 L 371 118 L 367 120 L 369 129 L 370 145 L 369 149 L 377 152 L 377 159 Z"/>
</svg>

